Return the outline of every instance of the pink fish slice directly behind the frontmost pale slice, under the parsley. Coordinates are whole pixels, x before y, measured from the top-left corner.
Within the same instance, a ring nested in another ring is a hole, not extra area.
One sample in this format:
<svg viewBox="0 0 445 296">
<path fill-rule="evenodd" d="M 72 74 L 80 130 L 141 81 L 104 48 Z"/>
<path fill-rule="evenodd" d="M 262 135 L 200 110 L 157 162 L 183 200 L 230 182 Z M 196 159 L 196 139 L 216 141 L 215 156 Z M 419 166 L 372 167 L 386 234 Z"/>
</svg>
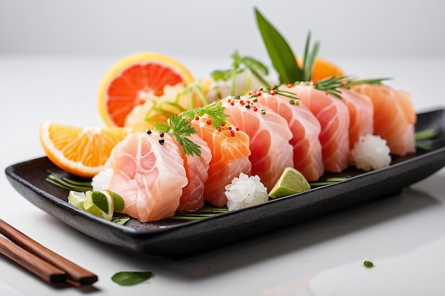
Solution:
<svg viewBox="0 0 445 296">
<path fill-rule="evenodd" d="M 209 163 L 212 159 L 210 148 L 208 148 L 207 143 L 202 138 L 196 134 L 191 135 L 189 138 L 200 146 L 200 156 L 186 155 L 175 140 L 181 151 L 188 180 L 186 187 L 183 187 L 183 194 L 177 209 L 183 212 L 193 212 L 203 207 L 205 182 L 208 178 Z"/>
</svg>

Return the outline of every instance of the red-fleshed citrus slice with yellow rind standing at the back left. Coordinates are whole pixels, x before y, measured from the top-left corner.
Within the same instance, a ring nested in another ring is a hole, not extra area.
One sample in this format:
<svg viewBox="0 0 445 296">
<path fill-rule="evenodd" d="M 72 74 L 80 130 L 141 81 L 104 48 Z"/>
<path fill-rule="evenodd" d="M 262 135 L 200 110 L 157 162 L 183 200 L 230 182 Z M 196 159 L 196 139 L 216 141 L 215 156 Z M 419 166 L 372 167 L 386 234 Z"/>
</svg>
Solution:
<svg viewBox="0 0 445 296">
<path fill-rule="evenodd" d="M 100 83 L 100 116 L 107 126 L 124 126 L 134 107 L 151 95 L 161 96 L 166 85 L 191 82 L 191 72 L 172 57 L 160 53 L 127 55 L 109 68 Z"/>
</svg>

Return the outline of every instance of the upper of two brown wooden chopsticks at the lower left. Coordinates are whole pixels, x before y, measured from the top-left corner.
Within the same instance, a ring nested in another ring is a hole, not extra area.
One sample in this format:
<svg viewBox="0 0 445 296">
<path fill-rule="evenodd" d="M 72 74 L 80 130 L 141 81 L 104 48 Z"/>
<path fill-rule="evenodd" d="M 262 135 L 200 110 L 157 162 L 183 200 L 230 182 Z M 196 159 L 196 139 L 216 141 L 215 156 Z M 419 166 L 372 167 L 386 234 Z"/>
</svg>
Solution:
<svg viewBox="0 0 445 296">
<path fill-rule="evenodd" d="M 72 261 L 69 261 L 67 258 L 60 256 L 58 253 L 55 253 L 48 248 L 45 248 L 45 246 L 42 246 L 37 241 L 34 241 L 29 236 L 26 236 L 26 234 L 23 234 L 21 231 L 18 231 L 13 226 L 7 224 L 5 221 L 1 219 L 0 219 L 0 234 L 3 234 L 17 246 L 20 246 L 29 253 L 32 253 L 34 256 L 41 258 L 43 261 L 50 263 L 50 265 L 54 265 L 56 268 L 60 270 L 63 270 L 66 273 L 65 280 L 68 283 L 72 283 L 73 285 L 91 285 L 92 283 L 97 282 L 97 275 L 95 275 L 94 273 L 90 273 L 90 271 L 85 270 L 84 268 L 73 263 Z M 1 247 L 2 251 L 4 248 L 3 246 L 9 247 L 9 250 L 11 250 L 9 252 L 13 251 L 18 252 L 17 248 L 12 248 L 11 245 L 9 244 L 6 245 L 3 243 Z M 45 269 L 44 271 L 48 270 Z M 54 272 L 54 270 L 52 270 L 52 272 Z M 42 273 L 42 274 L 48 276 L 48 273 Z M 51 275 L 52 273 L 49 274 Z M 56 276 L 55 278 L 56 280 L 58 280 L 58 276 Z"/>
</svg>

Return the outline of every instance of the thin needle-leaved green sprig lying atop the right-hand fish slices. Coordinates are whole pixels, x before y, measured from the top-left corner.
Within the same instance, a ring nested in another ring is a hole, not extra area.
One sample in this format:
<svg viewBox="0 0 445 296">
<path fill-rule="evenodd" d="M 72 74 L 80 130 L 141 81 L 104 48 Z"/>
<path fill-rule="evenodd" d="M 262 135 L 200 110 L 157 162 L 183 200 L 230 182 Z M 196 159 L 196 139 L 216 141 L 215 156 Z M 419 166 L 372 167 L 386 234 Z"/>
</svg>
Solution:
<svg viewBox="0 0 445 296">
<path fill-rule="evenodd" d="M 306 84 L 312 84 L 315 89 L 322 90 L 328 94 L 332 94 L 334 97 L 341 99 L 341 89 L 350 88 L 357 84 L 382 84 L 384 80 L 389 80 L 390 78 L 368 78 L 360 79 L 350 76 L 339 76 L 339 77 L 328 77 L 323 80 L 319 80 L 315 83 L 305 82 Z"/>
</svg>

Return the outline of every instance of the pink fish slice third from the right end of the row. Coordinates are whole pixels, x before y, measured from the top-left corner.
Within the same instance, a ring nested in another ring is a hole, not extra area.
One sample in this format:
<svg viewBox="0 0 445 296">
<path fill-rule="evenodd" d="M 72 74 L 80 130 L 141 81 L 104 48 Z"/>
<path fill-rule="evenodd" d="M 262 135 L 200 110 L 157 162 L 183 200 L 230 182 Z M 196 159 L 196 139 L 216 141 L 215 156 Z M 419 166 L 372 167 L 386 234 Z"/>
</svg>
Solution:
<svg viewBox="0 0 445 296">
<path fill-rule="evenodd" d="M 348 107 L 331 94 L 314 89 L 311 85 L 298 84 L 283 87 L 299 97 L 311 110 L 321 125 L 319 140 L 324 169 L 341 172 L 349 163 L 349 111 Z"/>
</svg>

